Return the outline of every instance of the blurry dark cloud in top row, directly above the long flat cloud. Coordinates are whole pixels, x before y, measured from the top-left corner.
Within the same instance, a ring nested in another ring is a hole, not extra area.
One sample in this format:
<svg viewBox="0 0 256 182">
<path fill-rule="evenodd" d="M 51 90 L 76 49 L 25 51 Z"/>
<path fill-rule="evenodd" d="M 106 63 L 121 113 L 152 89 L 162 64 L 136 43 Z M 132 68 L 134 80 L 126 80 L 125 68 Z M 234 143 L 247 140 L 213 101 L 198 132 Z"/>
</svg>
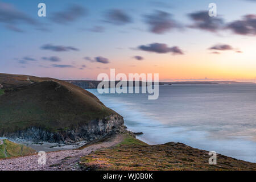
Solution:
<svg viewBox="0 0 256 182">
<path fill-rule="evenodd" d="M 172 19 L 172 15 L 164 11 L 156 11 L 154 14 L 146 15 L 145 22 L 150 26 L 150 31 L 155 34 L 164 34 L 173 28 L 180 27 Z"/>
</svg>

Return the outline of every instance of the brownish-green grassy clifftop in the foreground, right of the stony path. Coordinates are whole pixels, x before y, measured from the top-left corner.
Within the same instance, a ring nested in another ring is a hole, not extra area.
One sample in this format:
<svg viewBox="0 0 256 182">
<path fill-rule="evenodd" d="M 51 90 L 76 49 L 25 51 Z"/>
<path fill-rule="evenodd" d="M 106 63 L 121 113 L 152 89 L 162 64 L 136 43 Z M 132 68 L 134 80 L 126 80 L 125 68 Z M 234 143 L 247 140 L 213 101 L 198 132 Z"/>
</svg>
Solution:
<svg viewBox="0 0 256 182">
<path fill-rule="evenodd" d="M 256 170 L 256 163 L 217 155 L 210 165 L 208 151 L 183 143 L 148 145 L 126 137 L 113 148 L 93 152 L 81 158 L 81 167 L 90 170 Z"/>
</svg>

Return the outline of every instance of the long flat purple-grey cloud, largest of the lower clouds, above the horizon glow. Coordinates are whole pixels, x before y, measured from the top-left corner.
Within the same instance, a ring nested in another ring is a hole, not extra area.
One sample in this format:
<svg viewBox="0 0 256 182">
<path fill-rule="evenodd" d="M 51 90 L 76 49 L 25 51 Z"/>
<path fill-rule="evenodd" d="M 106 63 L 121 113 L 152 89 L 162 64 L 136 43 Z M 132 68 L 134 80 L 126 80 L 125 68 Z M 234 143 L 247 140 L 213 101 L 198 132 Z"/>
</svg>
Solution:
<svg viewBox="0 0 256 182">
<path fill-rule="evenodd" d="M 173 55 L 183 55 L 183 51 L 177 46 L 168 47 L 167 44 L 152 43 L 147 46 L 142 45 L 138 47 L 142 51 L 156 52 L 156 53 L 168 53 L 171 52 Z"/>
</svg>

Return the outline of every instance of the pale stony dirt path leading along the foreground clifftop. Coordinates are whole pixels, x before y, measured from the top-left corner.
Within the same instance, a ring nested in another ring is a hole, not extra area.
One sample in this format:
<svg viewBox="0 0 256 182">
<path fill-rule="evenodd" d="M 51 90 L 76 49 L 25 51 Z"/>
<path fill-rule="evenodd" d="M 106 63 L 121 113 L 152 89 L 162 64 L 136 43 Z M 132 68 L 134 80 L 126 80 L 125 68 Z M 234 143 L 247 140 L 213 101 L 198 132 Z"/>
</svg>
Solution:
<svg viewBox="0 0 256 182">
<path fill-rule="evenodd" d="M 46 153 L 46 164 L 38 164 L 38 155 L 23 156 L 14 159 L 0 160 L 0 170 L 15 170 L 15 171 L 27 171 L 27 170 L 80 170 L 79 159 L 81 156 L 90 154 L 90 152 L 100 150 L 101 148 L 112 147 L 122 142 L 122 135 L 116 135 L 115 137 L 102 142 L 92 144 L 82 150 L 65 150 L 58 152 Z"/>
</svg>

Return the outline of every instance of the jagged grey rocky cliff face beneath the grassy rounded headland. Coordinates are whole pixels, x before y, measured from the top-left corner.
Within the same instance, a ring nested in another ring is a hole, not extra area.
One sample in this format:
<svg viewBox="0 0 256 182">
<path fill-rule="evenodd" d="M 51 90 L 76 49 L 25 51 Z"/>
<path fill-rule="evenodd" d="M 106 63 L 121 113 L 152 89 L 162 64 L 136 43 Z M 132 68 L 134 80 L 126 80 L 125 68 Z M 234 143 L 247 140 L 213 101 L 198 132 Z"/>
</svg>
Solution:
<svg viewBox="0 0 256 182">
<path fill-rule="evenodd" d="M 34 142 L 57 142 L 69 144 L 79 142 L 81 140 L 87 140 L 90 142 L 109 134 L 121 133 L 122 130 L 125 131 L 123 118 L 121 115 L 112 114 L 104 119 L 94 119 L 88 124 L 75 129 L 67 129 L 53 133 L 44 129 L 30 127 L 16 133 L 4 134 L 3 137 L 11 139 L 26 139 Z"/>
</svg>

